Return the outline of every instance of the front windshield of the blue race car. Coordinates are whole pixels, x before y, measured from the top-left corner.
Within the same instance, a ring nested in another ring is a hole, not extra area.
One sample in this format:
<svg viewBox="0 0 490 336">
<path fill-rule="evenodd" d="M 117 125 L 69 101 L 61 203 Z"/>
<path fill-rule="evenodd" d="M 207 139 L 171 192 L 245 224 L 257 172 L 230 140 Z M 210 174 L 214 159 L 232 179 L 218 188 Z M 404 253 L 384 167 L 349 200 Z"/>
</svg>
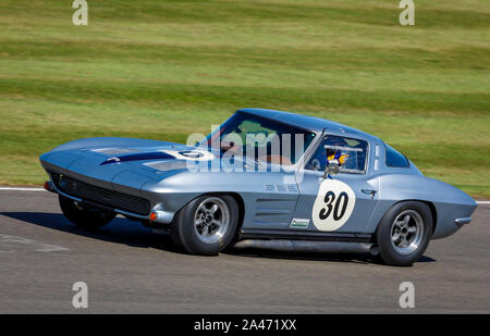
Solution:
<svg viewBox="0 0 490 336">
<path fill-rule="evenodd" d="M 295 164 L 315 138 L 316 133 L 236 112 L 199 142 L 222 153 L 242 155 L 258 162 Z"/>
</svg>

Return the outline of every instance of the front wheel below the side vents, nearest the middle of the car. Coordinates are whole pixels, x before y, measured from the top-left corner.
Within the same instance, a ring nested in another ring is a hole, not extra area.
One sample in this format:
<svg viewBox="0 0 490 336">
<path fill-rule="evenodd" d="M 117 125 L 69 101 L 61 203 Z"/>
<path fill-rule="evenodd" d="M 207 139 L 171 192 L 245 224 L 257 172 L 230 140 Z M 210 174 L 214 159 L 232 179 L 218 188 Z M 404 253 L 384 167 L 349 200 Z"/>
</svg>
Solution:
<svg viewBox="0 0 490 336">
<path fill-rule="evenodd" d="M 228 195 L 200 196 L 175 213 L 172 241 L 189 254 L 216 256 L 232 241 L 238 223 L 238 206 Z"/>
</svg>

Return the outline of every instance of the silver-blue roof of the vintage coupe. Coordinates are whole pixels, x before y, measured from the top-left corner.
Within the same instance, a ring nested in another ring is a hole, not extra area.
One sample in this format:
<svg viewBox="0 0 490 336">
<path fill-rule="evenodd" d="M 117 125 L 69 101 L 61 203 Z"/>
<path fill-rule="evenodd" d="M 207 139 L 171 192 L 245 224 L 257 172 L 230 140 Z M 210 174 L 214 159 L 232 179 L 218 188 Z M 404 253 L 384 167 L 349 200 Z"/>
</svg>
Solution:
<svg viewBox="0 0 490 336">
<path fill-rule="evenodd" d="M 302 128 L 307 128 L 314 132 L 322 132 L 327 128 L 327 132 L 341 132 L 348 133 L 355 136 L 363 137 L 369 140 L 379 140 L 378 137 L 375 137 L 365 132 L 358 130 L 356 128 L 342 125 L 329 120 L 324 120 L 317 116 L 297 114 L 285 111 L 277 111 L 277 110 L 268 110 L 268 109 L 241 109 L 237 112 L 245 112 L 254 115 L 259 115 L 262 117 L 267 117 L 270 120 L 277 120 L 278 122 L 286 123 L 294 126 L 299 126 Z M 347 135 L 346 135 L 347 136 Z"/>
</svg>

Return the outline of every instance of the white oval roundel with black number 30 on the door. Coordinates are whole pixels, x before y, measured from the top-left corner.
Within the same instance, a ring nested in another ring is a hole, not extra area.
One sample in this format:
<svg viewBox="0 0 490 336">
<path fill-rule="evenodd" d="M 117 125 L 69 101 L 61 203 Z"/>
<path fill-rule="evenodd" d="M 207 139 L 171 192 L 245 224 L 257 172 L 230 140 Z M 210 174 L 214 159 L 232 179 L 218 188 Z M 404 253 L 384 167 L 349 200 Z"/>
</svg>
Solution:
<svg viewBox="0 0 490 336">
<path fill-rule="evenodd" d="M 313 222 L 319 231 L 335 231 L 347 222 L 355 203 L 356 196 L 348 185 L 326 179 L 313 207 Z"/>
</svg>

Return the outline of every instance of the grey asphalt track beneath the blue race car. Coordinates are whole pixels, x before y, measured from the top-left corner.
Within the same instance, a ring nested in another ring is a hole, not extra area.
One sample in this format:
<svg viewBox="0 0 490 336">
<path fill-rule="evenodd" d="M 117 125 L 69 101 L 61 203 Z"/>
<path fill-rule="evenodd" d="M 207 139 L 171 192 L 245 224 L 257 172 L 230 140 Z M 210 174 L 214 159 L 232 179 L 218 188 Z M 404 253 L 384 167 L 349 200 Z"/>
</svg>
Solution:
<svg viewBox="0 0 490 336">
<path fill-rule="evenodd" d="M 490 313 L 489 257 L 487 203 L 401 269 L 369 256 L 185 256 L 138 223 L 85 231 L 51 192 L 0 190 L 0 313 Z M 72 306 L 75 282 L 87 309 Z M 414 309 L 399 306 L 402 282 L 415 285 Z"/>
</svg>

